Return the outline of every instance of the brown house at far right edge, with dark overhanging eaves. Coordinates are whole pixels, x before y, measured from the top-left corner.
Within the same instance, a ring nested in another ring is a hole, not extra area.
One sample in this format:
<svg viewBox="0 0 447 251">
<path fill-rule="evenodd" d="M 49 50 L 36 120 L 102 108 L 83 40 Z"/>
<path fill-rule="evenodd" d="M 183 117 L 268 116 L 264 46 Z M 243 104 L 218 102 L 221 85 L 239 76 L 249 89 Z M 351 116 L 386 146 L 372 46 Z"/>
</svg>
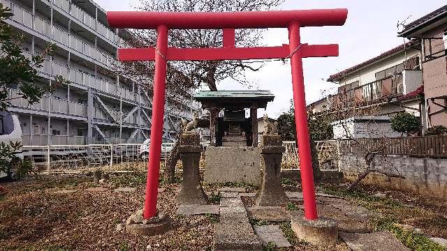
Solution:
<svg viewBox="0 0 447 251">
<path fill-rule="evenodd" d="M 427 126 L 447 126 L 447 6 L 407 24 L 399 36 L 423 45 Z"/>
</svg>

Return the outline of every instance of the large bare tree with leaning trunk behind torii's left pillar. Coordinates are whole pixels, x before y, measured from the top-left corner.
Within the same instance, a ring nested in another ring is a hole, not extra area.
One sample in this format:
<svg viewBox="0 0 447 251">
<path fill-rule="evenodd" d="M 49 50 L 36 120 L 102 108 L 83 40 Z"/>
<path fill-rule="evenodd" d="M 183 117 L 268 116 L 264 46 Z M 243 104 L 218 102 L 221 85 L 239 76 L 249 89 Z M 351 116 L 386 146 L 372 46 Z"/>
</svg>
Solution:
<svg viewBox="0 0 447 251">
<path fill-rule="evenodd" d="M 230 12 L 230 11 L 258 11 L 270 10 L 279 6 L 284 0 L 145 0 L 138 8 L 148 11 L 164 12 Z M 133 31 L 133 39 L 128 42 L 132 47 L 155 46 L 156 31 Z M 263 30 L 261 29 L 237 29 L 235 31 L 235 43 L 237 46 L 254 47 L 261 45 Z M 170 30 L 169 46 L 172 47 L 221 47 L 223 45 L 222 30 Z M 166 100 L 174 101 L 178 96 L 191 97 L 191 89 L 205 85 L 211 91 L 217 91 L 218 83 L 223 79 L 234 79 L 244 86 L 251 86 L 244 73 L 246 70 L 257 71 L 263 66 L 259 61 L 176 61 L 168 62 L 168 81 Z M 130 63 L 124 67 L 126 75 L 133 75 L 147 79 L 147 73 L 152 73 L 153 62 Z M 123 69 L 123 68 L 122 68 Z M 152 93 L 152 83 L 142 81 L 147 91 Z M 179 106 L 181 104 L 179 103 Z M 179 127 L 180 128 L 180 127 Z M 175 165 L 179 160 L 177 144 L 171 151 L 164 176 L 172 181 L 175 175 Z"/>
</svg>

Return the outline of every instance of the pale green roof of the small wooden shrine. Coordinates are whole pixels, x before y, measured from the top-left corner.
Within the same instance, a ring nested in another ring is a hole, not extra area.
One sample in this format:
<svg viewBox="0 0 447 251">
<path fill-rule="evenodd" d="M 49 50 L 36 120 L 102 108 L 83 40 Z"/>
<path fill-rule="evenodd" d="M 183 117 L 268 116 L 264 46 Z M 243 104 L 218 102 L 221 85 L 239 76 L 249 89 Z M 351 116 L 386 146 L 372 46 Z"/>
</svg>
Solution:
<svg viewBox="0 0 447 251">
<path fill-rule="evenodd" d="M 270 91 L 200 91 L 194 99 L 207 107 L 267 107 L 274 100 Z"/>
</svg>

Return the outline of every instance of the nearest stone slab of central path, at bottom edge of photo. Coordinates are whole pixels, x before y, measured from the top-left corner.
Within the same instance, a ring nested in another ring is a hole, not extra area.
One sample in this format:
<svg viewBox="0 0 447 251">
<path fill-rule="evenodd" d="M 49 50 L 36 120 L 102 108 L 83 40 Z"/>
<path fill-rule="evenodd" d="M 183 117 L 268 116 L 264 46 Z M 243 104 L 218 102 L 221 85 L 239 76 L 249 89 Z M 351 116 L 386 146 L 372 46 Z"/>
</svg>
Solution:
<svg viewBox="0 0 447 251">
<path fill-rule="evenodd" d="M 219 222 L 214 224 L 214 250 L 263 250 L 250 223 Z"/>
</svg>

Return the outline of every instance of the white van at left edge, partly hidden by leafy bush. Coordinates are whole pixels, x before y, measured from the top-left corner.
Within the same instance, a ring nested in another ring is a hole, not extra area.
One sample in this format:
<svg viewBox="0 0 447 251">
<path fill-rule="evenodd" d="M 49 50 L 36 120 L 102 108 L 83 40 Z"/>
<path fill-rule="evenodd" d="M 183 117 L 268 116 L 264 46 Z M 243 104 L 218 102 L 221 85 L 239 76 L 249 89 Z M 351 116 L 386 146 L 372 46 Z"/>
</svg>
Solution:
<svg viewBox="0 0 447 251">
<path fill-rule="evenodd" d="M 20 142 L 22 144 L 22 128 L 17 115 L 9 112 L 0 112 L 0 144 L 9 145 L 10 142 Z M 15 156 L 23 160 L 22 149 L 15 152 Z M 0 178 L 7 177 L 8 174 L 0 172 Z"/>
</svg>

